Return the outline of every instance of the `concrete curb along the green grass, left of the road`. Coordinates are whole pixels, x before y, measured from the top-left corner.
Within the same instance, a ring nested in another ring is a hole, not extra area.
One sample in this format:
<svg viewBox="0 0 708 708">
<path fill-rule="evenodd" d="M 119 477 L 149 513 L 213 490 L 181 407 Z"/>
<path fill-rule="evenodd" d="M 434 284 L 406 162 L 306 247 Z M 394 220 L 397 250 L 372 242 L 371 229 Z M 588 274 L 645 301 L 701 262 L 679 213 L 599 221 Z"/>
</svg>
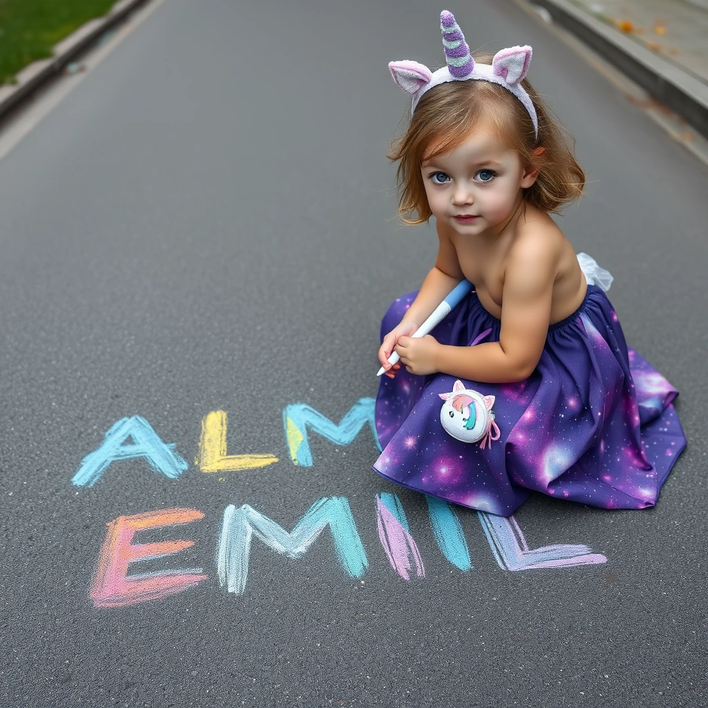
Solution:
<svg viewBox="0 0 708 708">
<path fill-rule="evenodd" d="M 54 79 L 72 59 L 96 42 L 103 33 L 120 24 L 148 0 L 120 0 L 102 18 L 90 20 L 53 47 L 54 56 L 32 62 L 17 75 L 17 84 L 0 86 L 0 120 Z"/>
</svg>

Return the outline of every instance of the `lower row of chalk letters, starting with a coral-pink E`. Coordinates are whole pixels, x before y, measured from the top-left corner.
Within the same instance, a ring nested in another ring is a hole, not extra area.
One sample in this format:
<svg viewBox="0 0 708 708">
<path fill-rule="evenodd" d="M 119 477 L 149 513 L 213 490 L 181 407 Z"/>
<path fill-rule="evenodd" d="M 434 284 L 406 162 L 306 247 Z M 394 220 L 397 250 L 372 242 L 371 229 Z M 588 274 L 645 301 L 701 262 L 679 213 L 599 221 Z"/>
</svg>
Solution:
<svg viewBox="0 0 708 708">
<path fill-rule="evenodd" d="M 445 501 L 427 497 L 433 533 L 448 561 L 462 571 L 472 569 L 467 541 L 454 508 Z M 405 581 L 424 578 L 421 552 L 411 535 L 406 513 L 396 494 L 376 496 L 379 541 L 392 568 Z M 561 568 L 605 563 L 581 544 L 554 544 L 530 549 L 513 516 L 504 518 L 478 512 L 484 535 L 498 566 L 506 571 Z M 98 559 L 90 596 L 96 607 L 120 607 L 165 598 L 195 586 L 207 578 L 201 568 L 179 568 L 128 575 L 129 564 L 175 554 L 193 545 L 191 541 L 171 540 L 133 544 L 140 530 L 189 523 L 204 518 L 196 509 L 154 510 L 120 516 L 107 524 L 108 532 Z M 215 554 L 219 585 L 227 592 L 242 595 L 246 589 L 255 533 L 268 547 L 292 559 L 300 558 L 329 527 L 338 563 L 346 575 L 361 577 L 368 561 L 349 502 L 344 497 L 324 497 L 316 501 L 299 519 L 292 532 L 264 516 L 248 504 L 224 509 L 222 529 Z"/>
</svg>

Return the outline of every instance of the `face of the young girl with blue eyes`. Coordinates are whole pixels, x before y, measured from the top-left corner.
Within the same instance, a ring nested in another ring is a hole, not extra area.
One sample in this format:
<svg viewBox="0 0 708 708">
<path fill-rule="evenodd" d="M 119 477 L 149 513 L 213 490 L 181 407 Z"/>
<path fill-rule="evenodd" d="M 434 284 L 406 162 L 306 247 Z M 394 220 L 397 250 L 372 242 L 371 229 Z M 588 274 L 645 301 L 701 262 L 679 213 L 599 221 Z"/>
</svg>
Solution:
<svg viewBox="0 0 708 708">
<path fill-rule="evenodd" d="M 482 128 L 452 152 L 423 159 L 421 174 L 436 219 L 459 234 L 497 236 L 538 171 Z"/>
</svg>

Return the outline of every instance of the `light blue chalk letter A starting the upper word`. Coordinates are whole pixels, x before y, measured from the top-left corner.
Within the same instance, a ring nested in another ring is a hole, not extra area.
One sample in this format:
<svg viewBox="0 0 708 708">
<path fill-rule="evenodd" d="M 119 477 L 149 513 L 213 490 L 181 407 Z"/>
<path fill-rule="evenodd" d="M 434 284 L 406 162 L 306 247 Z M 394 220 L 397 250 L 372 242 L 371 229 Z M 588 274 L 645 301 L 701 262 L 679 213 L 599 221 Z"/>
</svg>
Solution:
<svg viewBox="0 0 708 708">
<path fill-rule="evenodd" d="M 126 443 L 127 438 L 132 438 L 133 442 Z M 188 464 L 174 449 L 174 443 L 168 445 L 162 442 L 145 418 L 121 418 L 105 433 L 103 445 L 81 460 L 81 467 L 74 474 L 72 484 L 93 486 L 113 460 L 130 457 L 144 457 L 155 472 L 175 479 L 187 469 Z"/>
</svg>

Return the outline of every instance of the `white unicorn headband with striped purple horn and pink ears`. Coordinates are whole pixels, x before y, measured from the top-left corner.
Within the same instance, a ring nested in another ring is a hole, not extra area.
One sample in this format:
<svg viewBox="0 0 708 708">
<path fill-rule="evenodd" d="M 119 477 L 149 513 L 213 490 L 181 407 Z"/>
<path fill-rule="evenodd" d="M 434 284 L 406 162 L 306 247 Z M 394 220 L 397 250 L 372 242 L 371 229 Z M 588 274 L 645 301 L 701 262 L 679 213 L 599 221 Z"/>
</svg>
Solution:
<svg viewBox="0 0 708 708">
<path fill-rule="evenodd" d="M 523 103 L 533 122 L 533 127 L 538 137 L 538 118 L 536 109 L 530 96 L 521 86 L 521 79 L 526 76 L 531 63 L 531 47 L 510 47 L 494 55 L 491 66 L 489 64 L 475 64 L 469 54 L 469 47 L 464 41 L 464 35 L 455 17 L 451 12 L 443 10 L 440 13 L 440 31 L 442 32 L 442 45 L 445 47 L 446 67 L 431 72 L 424 64 L 418 62 L 391 62 L 389 69 L 394 81 L 406 93 L 413 94 L 411 113 L 416 110 L 418 101 L 426 91 L 438 84 L 448 81 L 467 81 L 479 79 L 490 81 L 492 84 L 503 86 L 507 91 L 516 96 Z"/>
</svg>

